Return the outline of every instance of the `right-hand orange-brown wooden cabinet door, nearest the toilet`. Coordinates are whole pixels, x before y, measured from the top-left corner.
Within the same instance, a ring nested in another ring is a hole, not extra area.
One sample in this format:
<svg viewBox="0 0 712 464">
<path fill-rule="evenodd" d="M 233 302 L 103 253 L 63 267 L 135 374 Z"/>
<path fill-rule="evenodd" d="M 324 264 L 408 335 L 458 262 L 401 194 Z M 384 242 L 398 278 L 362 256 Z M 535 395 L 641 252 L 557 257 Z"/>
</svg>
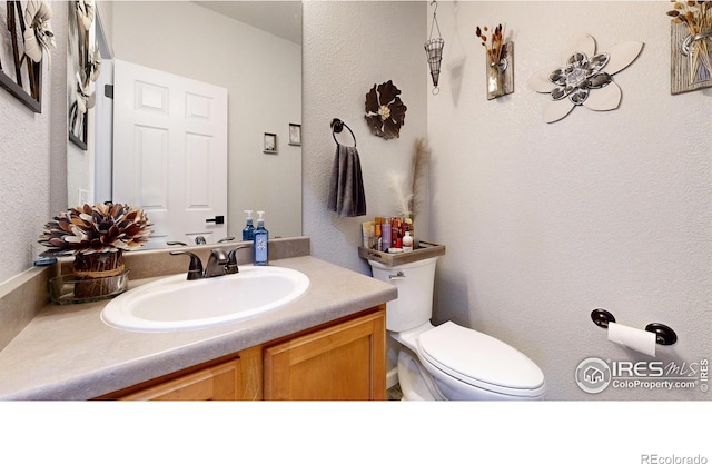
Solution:
<svg viewBox="0 0 712 464">
<path fill-rule="evenodd" d="M 385 310 L 265 349 L 265 399 L 385 399 Z"/>
</svg>

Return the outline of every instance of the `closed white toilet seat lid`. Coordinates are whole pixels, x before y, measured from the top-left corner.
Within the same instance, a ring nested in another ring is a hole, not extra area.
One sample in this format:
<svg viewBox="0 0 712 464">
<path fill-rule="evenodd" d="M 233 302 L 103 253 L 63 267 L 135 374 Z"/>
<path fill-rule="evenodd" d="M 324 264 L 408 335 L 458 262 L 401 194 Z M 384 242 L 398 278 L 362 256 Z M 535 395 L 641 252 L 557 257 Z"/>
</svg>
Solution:
<svg viewBox="0 0 712 464">
<path fill-rule="evenodd" d="M 453 322 L 421 334 L 418 347 L 437 367 L 473 385 L 514 389 L 544 385 L 544 374 L 522 352 Z"/>
</svg>

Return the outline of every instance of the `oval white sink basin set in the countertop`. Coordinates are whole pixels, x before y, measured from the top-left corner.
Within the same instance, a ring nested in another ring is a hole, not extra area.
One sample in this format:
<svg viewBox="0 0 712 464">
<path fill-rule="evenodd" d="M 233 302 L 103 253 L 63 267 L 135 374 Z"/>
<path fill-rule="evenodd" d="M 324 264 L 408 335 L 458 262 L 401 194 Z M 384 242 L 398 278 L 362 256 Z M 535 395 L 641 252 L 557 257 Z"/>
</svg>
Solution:
<svg viewBox="0 0 712 464">
<path fill-rule="evenodd" d="M 117 296 L 101 312 L 101 320 L 138 332 L 214 327 L 277 309 L 308 287 L 307 276 L 277 266 L 240 266 L 238 274 L 200 280 L 179 274 Z"/>
</svg>

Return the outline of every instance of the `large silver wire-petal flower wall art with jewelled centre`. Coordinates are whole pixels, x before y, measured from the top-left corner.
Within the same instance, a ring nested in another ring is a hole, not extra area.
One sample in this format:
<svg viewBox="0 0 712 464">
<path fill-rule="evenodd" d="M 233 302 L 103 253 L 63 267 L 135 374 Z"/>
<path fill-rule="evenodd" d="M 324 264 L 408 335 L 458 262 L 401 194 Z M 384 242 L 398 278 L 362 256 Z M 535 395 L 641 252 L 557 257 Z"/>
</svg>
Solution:
<svg viewBox="0 0 712 464">
<path fill-rule="evenodd" d="M 562 55 L 564 66 L 542 69 L 528 80 L 533 90 L 552 97 L 544 107 L 544 120 L 556 122 L 578 106 L 594 111 L 616 109 L 622 93 L 613 75 L 635 61 L 642 49 L 643 42 L 631 41 L 596 53 L 593 37 L 578 39 Z"/>
</svg>

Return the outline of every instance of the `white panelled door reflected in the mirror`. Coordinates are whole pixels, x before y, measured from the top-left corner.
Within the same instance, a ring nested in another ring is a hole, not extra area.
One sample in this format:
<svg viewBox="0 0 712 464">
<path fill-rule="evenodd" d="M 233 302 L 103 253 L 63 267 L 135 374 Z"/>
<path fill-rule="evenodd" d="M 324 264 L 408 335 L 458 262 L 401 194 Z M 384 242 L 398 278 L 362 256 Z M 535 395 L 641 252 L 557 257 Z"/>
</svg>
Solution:
<svg viewBox="0 0 712 464">
<path fill-rule="evenodd" d="M 113 201 L 146 210 L 156 246 L 225 238 L 227 90 L 122 60 L 113 66 Z"/>
</svg>

